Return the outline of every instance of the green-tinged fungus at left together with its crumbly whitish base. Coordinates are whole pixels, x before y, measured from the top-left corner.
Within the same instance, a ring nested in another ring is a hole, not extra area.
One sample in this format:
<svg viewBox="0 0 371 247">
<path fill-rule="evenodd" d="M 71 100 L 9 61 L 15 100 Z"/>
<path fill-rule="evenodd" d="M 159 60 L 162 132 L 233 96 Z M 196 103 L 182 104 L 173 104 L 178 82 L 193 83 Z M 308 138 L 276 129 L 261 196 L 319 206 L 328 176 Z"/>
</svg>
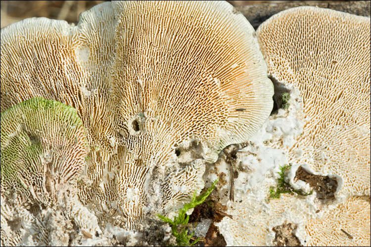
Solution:
<svg viewBox="0 0 371 247">
<path fill-rule="evenodd" d="M 26 100 L 1 113 L 0 138 L 1 245 L 61 246 L 76 229 L 100 231 L 76 196 L 89 150 L 76 109 Z"/>
</svg>

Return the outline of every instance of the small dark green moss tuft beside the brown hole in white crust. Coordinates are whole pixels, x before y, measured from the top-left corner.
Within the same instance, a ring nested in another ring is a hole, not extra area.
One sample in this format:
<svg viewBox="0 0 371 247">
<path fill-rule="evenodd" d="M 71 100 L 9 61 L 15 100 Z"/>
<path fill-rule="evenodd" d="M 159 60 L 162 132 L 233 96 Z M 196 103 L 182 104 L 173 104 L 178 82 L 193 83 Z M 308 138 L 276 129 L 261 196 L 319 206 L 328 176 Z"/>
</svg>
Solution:
<svg viewBox="0 0 371 247">
<path fill-rule="evenodd" d="M 288 170 L 290 167 L 291 167 L 291 165 L 284 165 L 284 166 L 279 167 L 280 171 L 278 172 L 279 178 L 278 178 L 278 181 L 277 181 L 277 187 L 276 188 L 271 187 L 271 189 L 269 190 L 268 200 L 269 199 L 279 199 L 281 194 L 285 194 L 285 193 L 290 193 L 290 194 L 295 193 L 295 194 L 300 195 L 300 196 L 312 195 L 313 190 L 310 191 L 309 193 L 304 193 L 301 190 L 295 190 L 294 188 L 291 187 L 291 185 L 289 183 L 287 183 L 285 181 L 285 179 L 284 179 L 285 171 Z"/>
</svg>

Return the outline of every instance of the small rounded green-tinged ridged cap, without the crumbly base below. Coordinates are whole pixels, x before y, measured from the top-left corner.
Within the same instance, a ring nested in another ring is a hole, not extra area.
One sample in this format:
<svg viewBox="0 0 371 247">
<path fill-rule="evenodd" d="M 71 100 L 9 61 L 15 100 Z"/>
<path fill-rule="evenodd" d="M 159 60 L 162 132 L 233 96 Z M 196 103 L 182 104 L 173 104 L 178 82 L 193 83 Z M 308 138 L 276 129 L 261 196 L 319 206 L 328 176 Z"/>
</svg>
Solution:
<svg viewBox="0 0 371 247">
<path fill-rule="evenodd" d="M 1 195 L 55 202 L 60 186 L 82 172 L 86 130 L 76 109 L 32 98 L 1 113 Z"/>
</svg>

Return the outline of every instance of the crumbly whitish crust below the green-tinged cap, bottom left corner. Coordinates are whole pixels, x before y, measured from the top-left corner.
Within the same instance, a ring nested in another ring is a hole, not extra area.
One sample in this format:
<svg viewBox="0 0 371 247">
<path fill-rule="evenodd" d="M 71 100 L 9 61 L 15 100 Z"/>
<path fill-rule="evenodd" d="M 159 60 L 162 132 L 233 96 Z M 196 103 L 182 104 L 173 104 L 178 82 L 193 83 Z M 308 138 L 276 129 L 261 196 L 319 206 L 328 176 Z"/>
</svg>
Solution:
<svg viewBox="0 0 371 247">
<path fill-rule="evenodd" d="M 78 202 L 75 193 L 59 193 L 58 202 L 9 206 L 1 197 L 2 246 L 76 246 L 101 234 L 96 217 Z"/>
</svg>

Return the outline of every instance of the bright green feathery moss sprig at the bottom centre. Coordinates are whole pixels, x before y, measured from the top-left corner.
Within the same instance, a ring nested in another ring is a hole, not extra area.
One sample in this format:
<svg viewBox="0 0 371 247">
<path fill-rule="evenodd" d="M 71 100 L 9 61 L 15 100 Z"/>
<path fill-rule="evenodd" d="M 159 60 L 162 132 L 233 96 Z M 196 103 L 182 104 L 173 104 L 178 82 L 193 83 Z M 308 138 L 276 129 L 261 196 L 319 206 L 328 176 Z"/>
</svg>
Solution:
<svg viewBox="0 0 371 247">
<path fill-rule="evenodd" d="M 178 212 L 178 216 L 174 217 L 174 220 L 169 219 L 163 215 L 157 214 L 157 216 L 164 222 L 167 222 L 171 225 L 173 235 L 177 239 L 178 246 L 193 246 L 198 242 L 198 238 L 192 243 L 189 242 L 190 238 L 193 236 L 194 232 L 191 235 L 188 235 L 188 229 L 186 225 L 188 224 L 189 215 L 186 215 L 185 212 L 202 204 L 210 193 L 215 189 L 215 184 L 218 182 L 219 178 L 214 181 L 212 186 L 210 186 L 207 191 L 198 197 L 196 197 L 196 192 L 194 192 L 190 203 L 185 204 L 183 208 Z M 186 215 L 186 216 L 185 216 Z"/>
</svg>

